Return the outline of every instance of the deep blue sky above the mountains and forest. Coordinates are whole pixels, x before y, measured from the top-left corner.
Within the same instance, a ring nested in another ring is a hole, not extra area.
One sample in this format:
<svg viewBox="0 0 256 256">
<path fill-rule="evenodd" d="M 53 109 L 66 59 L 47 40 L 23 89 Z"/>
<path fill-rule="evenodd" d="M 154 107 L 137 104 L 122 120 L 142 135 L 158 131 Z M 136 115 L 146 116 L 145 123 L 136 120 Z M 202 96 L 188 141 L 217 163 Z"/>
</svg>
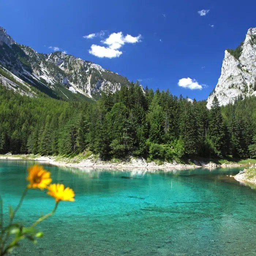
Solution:
<svg viewBox="0 0 256 256">
<path fill-rule="evenodd" d="M 60 48 L 143 86 L 197 100 L 216 86 L 224 50 L 256 26 L 253 0 L 1 0 L 1 10 L 0 26 L 38 52 Z M 180 79 L 198 89 L 178 86 Z"/>
</svg>

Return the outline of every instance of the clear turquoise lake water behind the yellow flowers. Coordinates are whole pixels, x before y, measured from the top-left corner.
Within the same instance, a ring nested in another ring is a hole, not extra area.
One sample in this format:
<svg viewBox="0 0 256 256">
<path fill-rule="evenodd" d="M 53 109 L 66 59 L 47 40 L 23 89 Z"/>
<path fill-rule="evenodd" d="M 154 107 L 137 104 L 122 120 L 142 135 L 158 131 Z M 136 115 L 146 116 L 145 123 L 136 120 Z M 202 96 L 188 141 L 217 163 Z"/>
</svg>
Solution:
<svg viewBox="0 0 256 256">
<path fill-rule="evenodd" d="M 0 194 L 15 206 L 29 161 L 0 161 Z M 39 229 L 38 245 L 13 255 L 256 255 L 256 191 L 226 175 L 240 169 L 175 173 L 82 171 L 44 165 L 76 192 Z M 132 178 L 124 178 L 132 177 Z M 17 219 L 31 223 L 54 200 L 30 190 Z"/>
</svg>

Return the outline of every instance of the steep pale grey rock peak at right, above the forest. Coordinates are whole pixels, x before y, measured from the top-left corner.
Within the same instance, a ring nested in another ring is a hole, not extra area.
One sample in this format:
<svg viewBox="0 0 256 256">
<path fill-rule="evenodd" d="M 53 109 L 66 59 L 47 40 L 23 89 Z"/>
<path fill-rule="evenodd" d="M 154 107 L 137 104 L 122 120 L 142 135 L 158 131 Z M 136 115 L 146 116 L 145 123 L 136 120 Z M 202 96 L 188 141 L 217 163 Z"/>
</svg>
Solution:
<svg viewBox="0 0 256 256">
<path fill-rule="evenodd" d="M 248 30 L 236 49 L 225 50 L 221 76 L 208 97 L 207 108 L 211 108 L 214 96 L 225 106 L 251 95 L 256 95 L 256 28 Z"/>
</svg>

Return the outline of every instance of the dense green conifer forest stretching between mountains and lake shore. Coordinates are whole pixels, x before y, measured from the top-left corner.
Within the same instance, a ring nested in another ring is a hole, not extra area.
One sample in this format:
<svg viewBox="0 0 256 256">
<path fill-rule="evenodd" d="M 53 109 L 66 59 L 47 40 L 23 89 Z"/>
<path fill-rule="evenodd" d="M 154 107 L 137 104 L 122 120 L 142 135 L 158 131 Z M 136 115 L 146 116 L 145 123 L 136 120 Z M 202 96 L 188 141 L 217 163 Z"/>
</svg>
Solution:
<svg viewBox="0 0 256 256">
<path fill-rule="evenodd" d="M 0 154 L 68 155 L 101 159 L 141 156 L 256 157 L 256 98 L 220 107 L 214 98 L 189 101 L 138 83 L 95 102 L 21 96 L 0 85 Z"/>
</svg>

